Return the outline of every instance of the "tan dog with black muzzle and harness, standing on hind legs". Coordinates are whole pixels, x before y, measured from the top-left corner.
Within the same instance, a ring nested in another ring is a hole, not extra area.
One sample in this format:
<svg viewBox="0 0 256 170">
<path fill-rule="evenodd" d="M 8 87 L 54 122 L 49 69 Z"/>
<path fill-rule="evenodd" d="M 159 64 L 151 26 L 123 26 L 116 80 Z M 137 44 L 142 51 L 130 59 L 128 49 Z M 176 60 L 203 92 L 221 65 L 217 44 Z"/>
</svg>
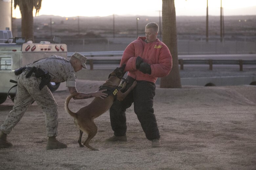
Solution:
<svg viewBox="0 0 256 170">
<path fill-rule="evenodd" d="M 80 135 L 78 139 L 78 144 L 80 146 L 85 145 L 92 150 L 98 150 L 97 148 L 89 145 L 90 141 L 97 133 L 97 126 L 94 123 L 94 119 L 109 110 L 115 98 L 122 101 L 136 86 L 137 82 L 134 81 L 132 86 L 126 92 L 121 92 L 125 88 L 125 85 L 123 85 L 122 89 L 118 89 L 118 85 L 120 84 L 121 79 L 123 79 L 125 74 L 124 68 L 125 64 L 123 64 L 122 67 L 116 68 L 109 75 L 108 80 L 106 80 L 106 82 L 100 86 L 100 90 L 108 89 L 106 91 L 106 93 L 108 93 L 106 98 L 101 99 L 96 97 L 89 105 L 81 108 L 76 113 L 72 112 L 68 108 L 69 101 L 72 97 L 75 96 L 75 94 L 71 94 L 66 98 L 65 109 L 72 117 L 75 118 L 75 125 L 80 129 Z M 84 145 L 81 144 L 83 132 L 88 134 L 87 139 L 83 143 Z"/>
</svg>

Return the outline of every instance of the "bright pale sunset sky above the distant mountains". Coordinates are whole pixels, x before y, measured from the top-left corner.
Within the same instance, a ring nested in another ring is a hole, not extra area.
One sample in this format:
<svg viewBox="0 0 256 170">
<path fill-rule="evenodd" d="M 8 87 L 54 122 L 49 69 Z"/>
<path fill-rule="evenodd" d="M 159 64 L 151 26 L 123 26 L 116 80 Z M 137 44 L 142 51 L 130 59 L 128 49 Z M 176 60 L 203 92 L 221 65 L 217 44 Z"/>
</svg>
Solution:
<svg viewBox="0 0 256 170">
<path fill-rule="evenodd" d="M 204 16 L 207 0 L 175 0 L 176 15 Z M 224 15 L 256 15 L 256 0 L 222 0 Z M 208 0 L 209 15 L 220 15 L 221 0 Z M 249 7 L 249 8 L 247 8 Z M 243 8 L 247 8 L 243 10 Z M 146 15 L 159 16 L 162 0 L 43 0 L 39 15 L 109 16 Z M 20 11 L 13 11 L 20 18 Z"/>
</svg>

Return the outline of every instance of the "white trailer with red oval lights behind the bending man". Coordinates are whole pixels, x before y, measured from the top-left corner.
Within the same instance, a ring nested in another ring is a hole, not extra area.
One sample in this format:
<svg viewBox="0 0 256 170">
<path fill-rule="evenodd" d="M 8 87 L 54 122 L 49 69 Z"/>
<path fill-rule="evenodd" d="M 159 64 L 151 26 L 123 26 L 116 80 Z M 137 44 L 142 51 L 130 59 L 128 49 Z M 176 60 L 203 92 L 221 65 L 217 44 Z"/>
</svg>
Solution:
<svg viewBox="0 0 256 170">
<path fill-rule="evenodd" d="M 14 83 L 10 80 L 17 81 L 14 70 L 19 69 L 34 60 L 57 55 L 67 59 L 66 44 L 52 44 L 50 42 L 40 43 L 18 43 L 22 39 L 16 39 L 16 43 L 0 43 L 0 104 L 8 97 L 8 92 Z M 60 83 L 49 83 L 51 91 L 57 90 Z M 12 88 L 9 96 L 14 97 L 16 87 Z"/>
</svg>

